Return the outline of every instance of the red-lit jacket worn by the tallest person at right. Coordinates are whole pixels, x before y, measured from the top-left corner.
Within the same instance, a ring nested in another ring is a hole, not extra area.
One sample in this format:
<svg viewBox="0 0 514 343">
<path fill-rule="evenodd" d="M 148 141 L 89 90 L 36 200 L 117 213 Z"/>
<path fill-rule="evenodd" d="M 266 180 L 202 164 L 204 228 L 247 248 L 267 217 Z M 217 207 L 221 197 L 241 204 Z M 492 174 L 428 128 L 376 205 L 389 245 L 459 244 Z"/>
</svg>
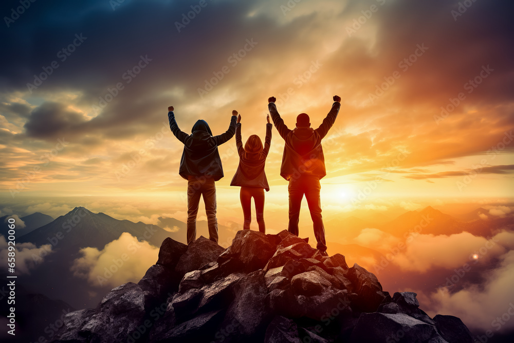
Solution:
<svg viewBox="0 0 514 343">
<path fill-rule="evenodd" d="M 280 117 L 277 106 L 270 102 L 268 110 L 280 136 L 284 138 L 284 153 L 282 155 L 282 165 L 280 175 L 286 180 L 299 178 L 302 174 L 315 175 L 320 179 L 326 175 L 325 157 L 321 140 L 326 136 L 328 130 L 332 128 L 339 113 L 341 104 L 334 102 L 332 109 L 328 112 L 325 119 L 318 129 L 295 128 L 290 130 Z"/>
</svg>

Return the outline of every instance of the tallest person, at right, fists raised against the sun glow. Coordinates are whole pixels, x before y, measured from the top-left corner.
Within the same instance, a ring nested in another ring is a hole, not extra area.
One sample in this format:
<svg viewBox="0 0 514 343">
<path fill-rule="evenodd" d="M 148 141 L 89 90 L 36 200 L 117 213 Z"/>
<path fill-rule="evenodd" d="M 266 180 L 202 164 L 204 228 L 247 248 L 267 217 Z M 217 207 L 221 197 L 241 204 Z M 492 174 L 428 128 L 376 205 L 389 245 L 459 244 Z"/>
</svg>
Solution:
<svg viewBox="0 0 514 343">
<path fill-rule="evenodd" d="M 289 181 L 289 226 L 288 231 L 298 236 L 300 207 L 305 195 L 313 219 L 314 235 L 318 241 L 317 248 L 326 254 L 325 228 L 321 216 L 320 179 L 326 175 L 325 159 L 321 140 L 334 125 L 341 107 L 341 98 L 334 96 L 332 109 L 318 129 L 310 127 L 310 118 L 306 113 L 300 113 L 296 118 L 296 128 L 290 130 L 277 112 L 275 97 L 268 98 L 268 109 L 273 124 L 280 136 L 285 140 L 284 154 L 280 175 Z"/>
</svg>

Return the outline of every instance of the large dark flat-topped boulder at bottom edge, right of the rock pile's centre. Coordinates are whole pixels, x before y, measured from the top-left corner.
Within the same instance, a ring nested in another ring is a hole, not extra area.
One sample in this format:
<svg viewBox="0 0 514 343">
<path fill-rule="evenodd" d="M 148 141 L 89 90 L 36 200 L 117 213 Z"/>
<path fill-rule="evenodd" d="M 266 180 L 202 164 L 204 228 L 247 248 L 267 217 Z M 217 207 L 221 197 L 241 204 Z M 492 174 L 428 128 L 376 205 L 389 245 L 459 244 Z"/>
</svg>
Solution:
<svg viewBox="0 0 514 343">
<path fill-rule="evenodd" d="M 428 342 L 443 339 L 435 327 L 406 314 L 362 313 L 350 342 Z M 442 340 L 444 342 L 444 340 Z"/>
</svg>

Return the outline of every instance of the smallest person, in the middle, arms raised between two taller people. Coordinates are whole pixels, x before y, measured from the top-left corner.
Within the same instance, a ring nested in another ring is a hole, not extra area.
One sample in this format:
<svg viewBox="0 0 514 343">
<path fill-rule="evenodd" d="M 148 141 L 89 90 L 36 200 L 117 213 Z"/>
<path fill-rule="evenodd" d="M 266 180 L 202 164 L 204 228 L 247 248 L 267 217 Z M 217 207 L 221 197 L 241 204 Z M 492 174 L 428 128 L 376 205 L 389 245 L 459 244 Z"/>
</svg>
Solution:
<svg viewBox="0 0 514 343">
<path fill-rule="evenodd" d="M 266 164 L 266 157 L 268 156 L 269 146 L 271 144 L 272 127 L 269 122 L 269 115 L 266 119 L 268 123 L 266 124 L 264 147 L 258 135 L 251 135 L 248 137 L 245 147 L 243 148 L 243 141 L 241 139 L 241 115 L 237 116 L 235 143 L 237 153 L 239 154 L 239 165 L 230 183 L 230 186 L 241 186 L 240 198 L 245 218 L 243 229 L 250 229 L 252 220 L 251 201 L 253 197 L 259 231 L 263 233 L 266 232 L 266 226 L 264 224 L 264 190 L 266 190 L 266 192 L 269 191 L 264 165 Z"/>
</svg>

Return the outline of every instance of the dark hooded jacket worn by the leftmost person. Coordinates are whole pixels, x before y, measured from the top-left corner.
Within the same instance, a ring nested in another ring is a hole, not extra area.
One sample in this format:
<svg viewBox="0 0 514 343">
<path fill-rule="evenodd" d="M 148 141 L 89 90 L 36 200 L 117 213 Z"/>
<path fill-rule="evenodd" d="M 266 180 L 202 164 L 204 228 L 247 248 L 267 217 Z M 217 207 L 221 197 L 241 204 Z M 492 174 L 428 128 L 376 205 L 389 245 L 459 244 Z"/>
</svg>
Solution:
<svg viewBox="0 0 514 343">
<path fill-rule="evenodd" d="M 188 176 L 211 176 L 215 181 L 221 179 L 224 174 L 218 146 L 234 136 L 236 117 L 232 116 L 228 130 L 218 136 L 212 136 L 205 120 L 196 121 L 188 135 L 178 128 L 173 112 L 168 112 L 168 119 L 171 131 L 184 145 L 179 175 L 185 179 Z"/>
</svg>

